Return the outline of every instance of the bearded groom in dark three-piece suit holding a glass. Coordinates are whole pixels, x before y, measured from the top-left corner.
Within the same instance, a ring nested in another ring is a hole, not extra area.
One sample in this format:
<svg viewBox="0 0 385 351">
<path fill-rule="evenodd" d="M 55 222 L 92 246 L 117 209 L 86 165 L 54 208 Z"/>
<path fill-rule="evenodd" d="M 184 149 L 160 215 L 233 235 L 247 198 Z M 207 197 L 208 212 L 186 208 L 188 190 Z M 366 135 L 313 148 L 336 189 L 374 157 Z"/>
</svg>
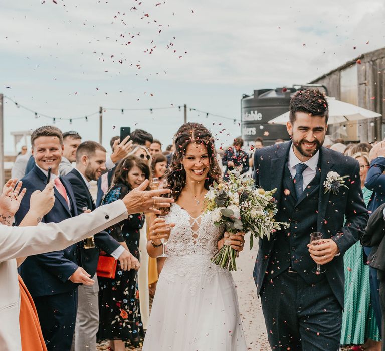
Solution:
<svg viewBox="0 0 385 351">
<path fill-rule="evenodd" d="M 254 279 L 275 350 L 339 349 L 344 306 L 343 255 L 361 236 L 368 214 L 359 164 L 322 147 L 328 119 L 325 96 L 298 91 L 290 101 L 291 141 L 256 150 L 254 179 L 277 200 L 277 221 L 289 227 L 259 240 Z M 346 187 L 324 185 L 330 171 Z M 334 192 L 333 192 L 334 190 Z M 346 223 L 344 225 L 344 216 Z M 310 245 L 310 233 L 323 243 Z M 326 270 L 314 274 L 316 263 Z"/>
</svg>

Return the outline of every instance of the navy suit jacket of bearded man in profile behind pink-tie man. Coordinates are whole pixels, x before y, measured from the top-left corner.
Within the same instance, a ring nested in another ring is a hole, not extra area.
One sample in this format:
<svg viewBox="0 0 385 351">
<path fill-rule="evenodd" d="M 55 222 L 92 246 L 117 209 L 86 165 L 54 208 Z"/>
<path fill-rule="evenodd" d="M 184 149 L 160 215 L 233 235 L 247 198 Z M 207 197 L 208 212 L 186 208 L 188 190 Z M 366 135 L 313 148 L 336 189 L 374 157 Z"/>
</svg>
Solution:
<svg viewBox="0 0 385 351">
<path fill-rule="evenodd" d="M 80 214 L 83 212 L 83 207 L 87 207 L 91 211 L 94 211 L 96 208 L 94 200 L 92 199 L 87 184 L 84 182 L 84 179 L 79 171 L 72 169 L 65 176 L 65 179 L 71 183 L 78 213 Z M 85 249 L 83 243 L 79 243 L 82 257 L 82 267 L 88 274 L 91 275 L 91 277 L 96 273 L 96 267 L 99 259 L 99 248 L 107 252 L 107 254 L 111 254 L 120 246 L 120 244 L 105 231 L 95 234 L 94 239 L 95 248 L 92 249 Z"/>
</svg>

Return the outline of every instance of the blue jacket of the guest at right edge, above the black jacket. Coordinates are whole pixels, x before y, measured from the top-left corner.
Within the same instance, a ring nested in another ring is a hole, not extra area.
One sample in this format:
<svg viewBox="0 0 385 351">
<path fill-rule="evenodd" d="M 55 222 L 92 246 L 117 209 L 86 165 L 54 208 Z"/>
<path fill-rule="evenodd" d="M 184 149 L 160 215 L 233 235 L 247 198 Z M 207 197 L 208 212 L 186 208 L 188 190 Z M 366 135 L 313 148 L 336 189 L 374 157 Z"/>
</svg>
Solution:
<svg viewBox="0 0 385 351">
<path fill-rule="evenodd" d="M 366 174 L 365 187 L 373 191 L 367 205 L 372 214 L 379 206 L 385 203 L 385 157 L 374 158 Z"/>
</svg>

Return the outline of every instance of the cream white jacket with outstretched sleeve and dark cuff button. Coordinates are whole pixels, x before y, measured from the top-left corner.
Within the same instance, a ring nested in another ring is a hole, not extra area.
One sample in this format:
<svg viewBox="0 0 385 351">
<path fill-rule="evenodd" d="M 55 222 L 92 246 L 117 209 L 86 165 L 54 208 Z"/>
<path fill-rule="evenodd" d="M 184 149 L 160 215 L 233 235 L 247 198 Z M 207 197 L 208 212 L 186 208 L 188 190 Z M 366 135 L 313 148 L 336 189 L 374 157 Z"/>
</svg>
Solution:
<svg viewBox="0 0 385 351">
<path fill-rule="evenodd" d="M 40 223 L 36 227 L 0 225 L 0 349 L 21 351 L 20 291 L 16 258 L 63 250 L 128 217 L 120 200 L 92 213 L 60 223 Z"/>
</svg>

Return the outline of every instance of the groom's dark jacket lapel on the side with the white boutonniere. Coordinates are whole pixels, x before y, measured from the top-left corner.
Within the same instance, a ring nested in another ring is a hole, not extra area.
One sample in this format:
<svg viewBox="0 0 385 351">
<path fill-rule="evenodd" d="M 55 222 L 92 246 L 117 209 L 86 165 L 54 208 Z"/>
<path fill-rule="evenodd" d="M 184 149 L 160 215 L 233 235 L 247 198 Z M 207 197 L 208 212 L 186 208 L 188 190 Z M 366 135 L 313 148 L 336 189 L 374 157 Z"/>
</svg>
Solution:
<svg viewBox="0 0 385 351">
<path fill-rule="evenodd" d="M 330 155 L 330 151 L 326 147 L 320 148 L 320 157 L 321 157 L 321 179 L 319 184 L 319 194 L 318 194 L 318 216 L 317 216 L 317 231 L 320 232 L 326 214 L 327 205 L 329 203 L 330 192 L 325 194 L 325 188 L 323 182 L 325 182 L 327 173 L 332 170 L 334 166 L 333 158 Z"/>
</svg>

